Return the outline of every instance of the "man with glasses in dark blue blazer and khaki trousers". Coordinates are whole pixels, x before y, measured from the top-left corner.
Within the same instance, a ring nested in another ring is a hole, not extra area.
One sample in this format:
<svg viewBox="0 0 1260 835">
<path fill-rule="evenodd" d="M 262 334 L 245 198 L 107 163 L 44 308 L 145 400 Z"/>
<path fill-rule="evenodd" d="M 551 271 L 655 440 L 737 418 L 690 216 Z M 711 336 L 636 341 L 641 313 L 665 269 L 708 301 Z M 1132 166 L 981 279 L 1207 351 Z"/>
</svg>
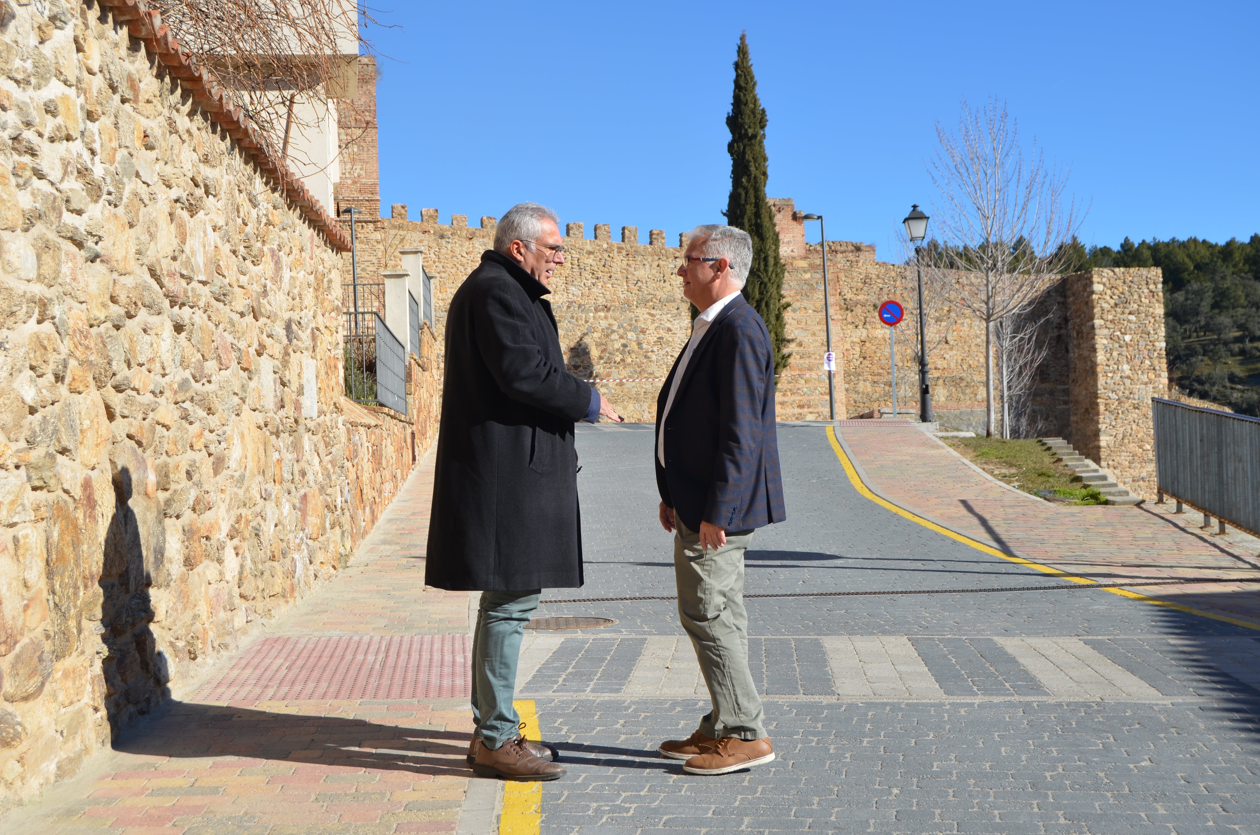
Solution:
<svg viewBox="0 0 1260 835">
<path fill-rule="evenodd" d="M 748 670 L 743 552 L 752 532 L 781 522 L 770 333 L 740 290 L 752 238 L 699 226 L 678 275 L 701 312 L 656 399 L 660 525 L 674 534 L 678 617 L 708 685 L 712 710 L 660 753 L 693 774 L 724 774 L 775 758 Z"/>
</svg>

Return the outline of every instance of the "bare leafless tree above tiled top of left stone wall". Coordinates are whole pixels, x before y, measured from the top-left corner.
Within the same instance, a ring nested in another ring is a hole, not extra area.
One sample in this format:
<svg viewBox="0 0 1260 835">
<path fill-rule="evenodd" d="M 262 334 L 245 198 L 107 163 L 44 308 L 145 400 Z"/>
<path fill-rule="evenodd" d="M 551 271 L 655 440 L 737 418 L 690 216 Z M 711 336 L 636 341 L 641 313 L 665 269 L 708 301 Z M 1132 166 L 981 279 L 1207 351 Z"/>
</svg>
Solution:
<svg viewBox="0 0 1260 835">
<path fill-rule="evenodd" d="M 149 8 L 285 160 L 295 136 L 318 132 L 333 100 L 348 97 L 358 55 L 370 50 L 360 20 L 375 23 L 355 0 L 149 0 Z M 310 169 L 330 160 L 294 161 Z"/>
</svg>

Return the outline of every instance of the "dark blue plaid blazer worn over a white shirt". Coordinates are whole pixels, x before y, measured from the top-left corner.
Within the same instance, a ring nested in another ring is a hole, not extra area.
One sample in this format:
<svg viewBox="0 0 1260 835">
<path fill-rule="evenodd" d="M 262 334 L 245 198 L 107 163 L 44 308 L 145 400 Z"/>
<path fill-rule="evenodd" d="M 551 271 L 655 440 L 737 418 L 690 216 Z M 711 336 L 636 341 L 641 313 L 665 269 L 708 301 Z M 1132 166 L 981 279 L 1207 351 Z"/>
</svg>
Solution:
<svg viewBox="0 0 1260 835">
<path fill-rule="evenodd" d="M 685 346 L 683 351 L 685 352 Z M 696 346 L 665 418 L 678 362 L 656 397 L 660 499 L 698 531 L 701 521 L 750 531 L 788 517 L 775 431 L 775 354 L 765 322 L 743 295 L 732 299 Z"/>
</svg>

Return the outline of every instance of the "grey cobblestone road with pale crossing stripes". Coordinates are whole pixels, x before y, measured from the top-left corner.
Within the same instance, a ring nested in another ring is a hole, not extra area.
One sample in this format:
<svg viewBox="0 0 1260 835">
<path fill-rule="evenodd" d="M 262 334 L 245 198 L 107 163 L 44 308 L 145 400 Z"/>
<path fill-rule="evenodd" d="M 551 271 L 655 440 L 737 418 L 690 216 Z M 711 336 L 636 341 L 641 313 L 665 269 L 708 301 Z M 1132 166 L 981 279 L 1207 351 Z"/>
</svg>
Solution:
<svg viewBox="0 0 1260 835">
<path fill-rule="evenodd" d="M 544 599 L 672 590 L 651 438 L 581 431 L 587 585 Z M 1061 583 L 863 498 L 822 428 L 779 438 L 789 520 L 757 532 L 750 593 Z M 518 681 L 570 771 L 543 787 L 543 832 L 1260 832 L 1254 629 L 1100 589 L 750 600 L 779 758 L 697 777 L 653 753 L 707 709 L 672 609 L 544 607 L 619 622 L 527 641 Z"/>
</svg>

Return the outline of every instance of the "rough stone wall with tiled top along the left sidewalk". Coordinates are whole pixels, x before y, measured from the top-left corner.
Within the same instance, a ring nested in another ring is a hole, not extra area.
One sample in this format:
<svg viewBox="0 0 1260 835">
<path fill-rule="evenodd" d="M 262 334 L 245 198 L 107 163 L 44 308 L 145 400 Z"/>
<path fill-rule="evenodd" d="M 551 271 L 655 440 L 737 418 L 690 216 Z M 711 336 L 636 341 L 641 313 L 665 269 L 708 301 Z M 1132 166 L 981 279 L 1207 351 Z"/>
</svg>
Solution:
<svg viewBox="0 0 1260 835">
<path fill-rule="evenodd" d="M 0 10 L 4 809 L 344 566 L 437 376 L 348 402 L 309 212 L 98 6 Z"/>
</svg>

